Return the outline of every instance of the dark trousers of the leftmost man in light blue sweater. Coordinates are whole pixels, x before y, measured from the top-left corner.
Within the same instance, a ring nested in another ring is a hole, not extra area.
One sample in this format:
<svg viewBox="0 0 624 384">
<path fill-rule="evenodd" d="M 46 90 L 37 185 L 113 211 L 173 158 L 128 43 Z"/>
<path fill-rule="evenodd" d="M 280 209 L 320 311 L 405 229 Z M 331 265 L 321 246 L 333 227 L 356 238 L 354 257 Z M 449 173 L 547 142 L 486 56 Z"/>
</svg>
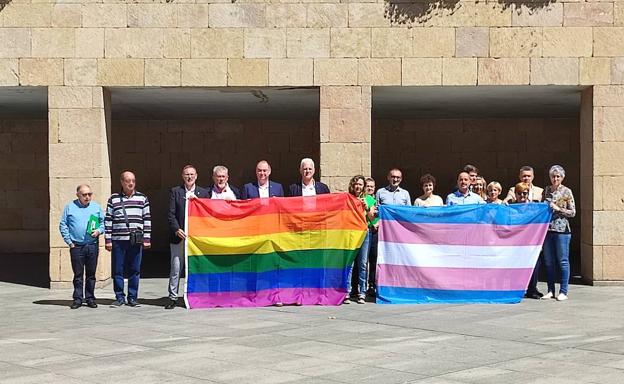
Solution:
<svg viewBox="0 0 624 384">
<path fill-rule="evenodd" d="M 93 292 L 95 290 L 95 270 L 97 269 L 98 257 L 97 243 L 76 245 L 74 248 L 69 249 L 69 254 L 71 256 L 72 270 L 74 271 L 74 300 L 95 300 Z"/>
</svg>

